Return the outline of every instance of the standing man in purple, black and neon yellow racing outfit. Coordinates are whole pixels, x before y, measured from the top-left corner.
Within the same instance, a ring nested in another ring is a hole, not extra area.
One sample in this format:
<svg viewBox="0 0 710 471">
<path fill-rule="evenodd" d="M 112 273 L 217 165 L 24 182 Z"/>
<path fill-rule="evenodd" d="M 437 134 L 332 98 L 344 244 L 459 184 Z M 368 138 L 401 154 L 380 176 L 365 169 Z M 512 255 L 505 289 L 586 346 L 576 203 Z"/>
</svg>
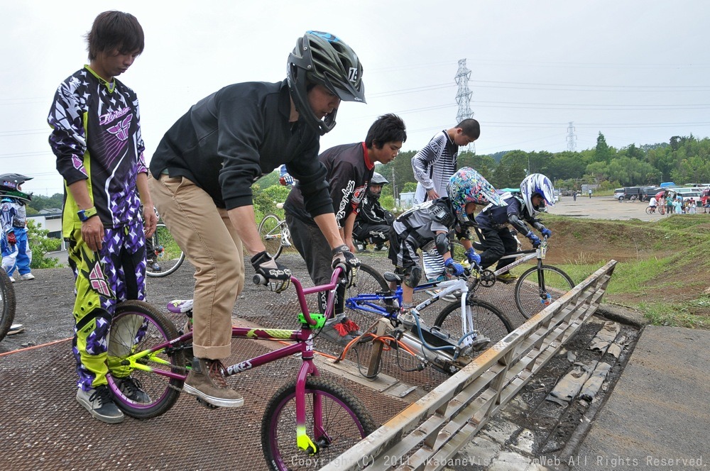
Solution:
<svg viewBox="0 0 710 471">
<path fill-rule="evenodd" d="M 116 303 L 146 298 L 146 237 L 158 222 L 138 98 L 116 79 L 143 52 L 143 28 L 129 13 L 105 11 L 86 38 L 89 65 L 60 84 L 49 143 L 66 187 L 62 233 L 76 282 L 77 401 L 100 421 L 118 423 L 124 414 L 107 386 L 109 326 Z M 129 399 L 150 400 L 130 376 L 114 379 Z"/>
</svg>

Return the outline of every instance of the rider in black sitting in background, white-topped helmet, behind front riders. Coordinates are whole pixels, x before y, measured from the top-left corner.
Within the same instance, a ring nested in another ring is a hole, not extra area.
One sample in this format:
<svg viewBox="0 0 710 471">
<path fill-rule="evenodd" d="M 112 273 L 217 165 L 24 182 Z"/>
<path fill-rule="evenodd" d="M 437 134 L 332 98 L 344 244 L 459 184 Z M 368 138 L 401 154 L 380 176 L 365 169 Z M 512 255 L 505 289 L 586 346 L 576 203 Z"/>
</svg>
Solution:
<svg viewBox="0 0 710 471">
<path fill-rule="evenodd" d="M 359 252 L 367 252 L 368 242 L 376 244 L 375 250 L 385 250 L 384 243 L 389 238 L 390 227 L 394 221 L 391 212 L 380 204 L 382 187 L 388 183 L 381 174 L 372 174 L 353 228 L 354 238 L 362 245 L 361 249 L 358 248 Z"/>
</svg>

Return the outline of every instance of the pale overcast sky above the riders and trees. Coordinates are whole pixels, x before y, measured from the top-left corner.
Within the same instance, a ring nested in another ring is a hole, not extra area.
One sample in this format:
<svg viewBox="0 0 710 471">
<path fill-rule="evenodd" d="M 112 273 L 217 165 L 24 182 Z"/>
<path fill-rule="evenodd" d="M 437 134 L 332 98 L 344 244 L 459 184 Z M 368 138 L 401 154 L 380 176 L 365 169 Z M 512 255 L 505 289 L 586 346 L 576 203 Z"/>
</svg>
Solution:
<svg viewBox="0 0 710 471">
<path fill-rule="evenodd" d="M 3 0 L 0 172 L 62 192 L 47 143 L 58 84 L 87 63 L 83 35 L 98 13 L 128 11 L 146 49 L 119 79 L 141 103 L 150 160 L 196 101 L 235 82 L 279 82 L 296 39 L 338 35 L 359 55 L 367 104 L 344 103 L 321 149 L 364 140 L 383 113 L 408 126 L 404 150 L 456 124 L 458 61 L 471 70 L 476 152 L 577 150 L 599 132 L 623 148 L 710 134 L 710 5 L 705 0 L 158 1 L 77 6 Z"/>
</svg>

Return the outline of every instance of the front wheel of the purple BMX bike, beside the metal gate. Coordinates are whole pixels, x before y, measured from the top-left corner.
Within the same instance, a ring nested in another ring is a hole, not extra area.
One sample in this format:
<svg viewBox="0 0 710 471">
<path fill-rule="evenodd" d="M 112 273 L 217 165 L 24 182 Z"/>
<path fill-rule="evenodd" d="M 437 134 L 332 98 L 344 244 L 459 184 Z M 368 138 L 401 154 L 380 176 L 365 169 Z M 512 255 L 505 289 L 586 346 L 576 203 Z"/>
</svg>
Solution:
<svg viewBox="0 0 710 471">
<path fill-rule="evenodd" d="M 266 404 L 261 449 L 271 470 L 320 469 L 377 428 L 365 405 L 329 379 L 307 377 L 305 406 L 305 433 L 317 446 L 315 454 L 296 444 L 296 380 L 280 387 Z"/>
</svg>

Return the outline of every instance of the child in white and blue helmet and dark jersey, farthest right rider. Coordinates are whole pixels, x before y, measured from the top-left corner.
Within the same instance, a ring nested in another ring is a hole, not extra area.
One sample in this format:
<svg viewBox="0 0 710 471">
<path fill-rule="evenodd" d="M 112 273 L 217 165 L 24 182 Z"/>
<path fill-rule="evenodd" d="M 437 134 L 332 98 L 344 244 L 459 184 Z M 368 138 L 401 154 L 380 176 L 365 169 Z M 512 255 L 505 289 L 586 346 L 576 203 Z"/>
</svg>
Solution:
<svg viewBox="0 0 710 471">
<path fill-rule="evenodd" d="M 540 246 L 540 238 L 533 234 L 525 224 L 526 222 L 540 231 L 545 237 L 552 237 L 552 231 L 535 219 L 545 205 L 555 206 L 555 189 L 550 179 L 540 173 L 533 173 L 525 177 L 520 183 L 520 193 L 515 192 L 504 196 L 505 206 L 489 206 L 476 216 L 476 226 L 481 233 L 481 244 L 484 252 L 481 253 L 481 267 L 489 267 L 498 261 L 496 270 L 514 262 L 513 259 L 500 260 L 503 255 L 514 253 L 518 249 L 518 241 L 510 233 L 510 226 L 525 235 L 532 243 L 533 248 Z M 512 282 L 515 277 L 510 273 L 498 276 L 502 282 Z"/>
</svg>

